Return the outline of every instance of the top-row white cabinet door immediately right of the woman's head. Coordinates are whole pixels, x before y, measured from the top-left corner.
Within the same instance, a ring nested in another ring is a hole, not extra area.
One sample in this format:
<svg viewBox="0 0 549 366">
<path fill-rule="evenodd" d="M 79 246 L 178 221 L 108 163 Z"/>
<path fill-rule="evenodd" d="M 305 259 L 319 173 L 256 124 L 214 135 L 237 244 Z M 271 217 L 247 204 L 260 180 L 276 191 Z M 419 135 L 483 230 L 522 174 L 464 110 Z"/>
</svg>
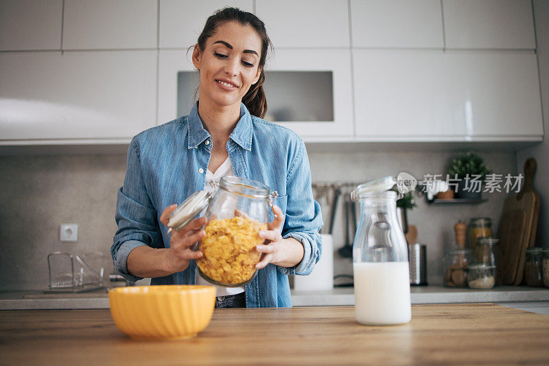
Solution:
<svg viewBox="0 0 549 366">
<path fill-rule="evenodd" d="M 255 0 L 275 49 L 349 47 L 347 0 Z"/>
</svg>

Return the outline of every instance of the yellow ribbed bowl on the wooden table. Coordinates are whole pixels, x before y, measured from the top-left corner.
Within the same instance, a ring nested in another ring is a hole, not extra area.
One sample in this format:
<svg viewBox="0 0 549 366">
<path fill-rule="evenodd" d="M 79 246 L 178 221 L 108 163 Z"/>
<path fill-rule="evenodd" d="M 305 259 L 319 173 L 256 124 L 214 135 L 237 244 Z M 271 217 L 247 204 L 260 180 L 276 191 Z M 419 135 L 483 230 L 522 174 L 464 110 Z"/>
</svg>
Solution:
<svg viewBox="0 0 549 366">
<path fill-rule="evenodd" d="M 116 326 L 133 339 L 185 339 L 207 327 L 215 287 L 129 286 L 108 291 Z"/>
</svg>

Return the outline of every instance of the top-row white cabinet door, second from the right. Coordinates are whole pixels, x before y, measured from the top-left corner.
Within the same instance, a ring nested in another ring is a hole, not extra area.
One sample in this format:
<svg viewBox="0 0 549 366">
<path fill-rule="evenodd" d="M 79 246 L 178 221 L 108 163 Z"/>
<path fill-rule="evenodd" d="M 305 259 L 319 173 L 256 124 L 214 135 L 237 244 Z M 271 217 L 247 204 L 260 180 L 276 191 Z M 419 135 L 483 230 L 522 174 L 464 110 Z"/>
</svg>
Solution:
<svg viewBox="0 0 549 366">
<path fill-rule="evenodd" d="M 351 0 L 353 47 L 442 49 L 440 0 Z"/>
</svg>

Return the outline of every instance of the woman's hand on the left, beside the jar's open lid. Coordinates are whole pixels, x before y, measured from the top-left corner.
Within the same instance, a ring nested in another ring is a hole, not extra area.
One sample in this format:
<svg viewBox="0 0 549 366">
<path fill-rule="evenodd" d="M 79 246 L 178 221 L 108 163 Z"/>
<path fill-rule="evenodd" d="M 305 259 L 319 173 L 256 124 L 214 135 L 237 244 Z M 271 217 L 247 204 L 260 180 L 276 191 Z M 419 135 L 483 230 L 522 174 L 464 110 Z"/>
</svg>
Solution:
<svg viewBox="0 0 549 366">
<path fill-rule="evenodd" d="M 161 222 L 167 226 L 170 221 L 170 214 L 176 209 L 177 205 L 168 206 L 162 211 L 160 216 Z M 183 271 L 189 266 L 189 260 L 197 260 L 202 258 L 202 252 L 194 251 L 193 247 L 196 242 L 204 238 L 206 232 L 202 229 L 202 225 L 206 224 L 206 218 L 195 218 L 189 222 L 183 229 L 172 231 L 170 238 L 170 248 L 165 251 L 165 262 L 169 271 Z"/>
</svg>

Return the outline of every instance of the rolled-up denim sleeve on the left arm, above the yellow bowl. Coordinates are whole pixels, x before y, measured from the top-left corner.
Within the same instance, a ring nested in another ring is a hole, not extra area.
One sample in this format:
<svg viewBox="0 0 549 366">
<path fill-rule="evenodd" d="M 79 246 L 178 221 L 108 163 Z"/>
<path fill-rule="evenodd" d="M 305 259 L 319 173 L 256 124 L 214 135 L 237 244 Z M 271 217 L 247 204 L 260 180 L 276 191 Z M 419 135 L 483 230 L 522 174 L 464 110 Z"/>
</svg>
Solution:
<svg viewBox="0 0 549 366">
<path fill-rule="evenodd" d="M 128 255 L 142 245 L 159 247 L 162 236 L 154 209 L 143 181 L 143 172 L 137 141 L 132 139 L 128 148 L 128 168 L 124 185 L 117 192 L 115 219 L 118 230 L 110 247 L 115 270 L 129 281 L 137 277 L 128 272 Z"/>
</svg>

